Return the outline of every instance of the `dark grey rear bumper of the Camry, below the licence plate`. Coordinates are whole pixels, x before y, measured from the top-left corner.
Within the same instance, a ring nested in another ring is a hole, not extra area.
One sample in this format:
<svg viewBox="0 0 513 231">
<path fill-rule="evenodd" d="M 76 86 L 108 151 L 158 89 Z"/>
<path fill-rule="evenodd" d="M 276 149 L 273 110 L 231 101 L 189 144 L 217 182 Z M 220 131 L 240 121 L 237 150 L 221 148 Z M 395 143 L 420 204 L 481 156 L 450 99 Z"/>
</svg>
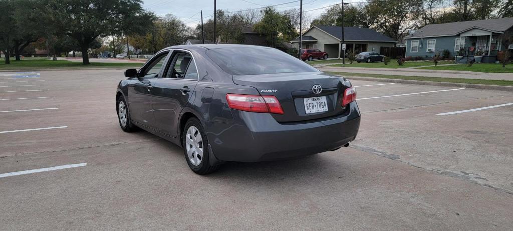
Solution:
<svg viewBox="0 0 513 231">
<path fill-rule="evenodd" d="M 356 102 L 345 114 L 307 123 L 282 124 L 267 113 L 232 111 L 234 124 L 208 133 L 212 151 L 222 161 L 270 161 L 325 152 L 353 141 L 360 127 Z"/>
</svg>

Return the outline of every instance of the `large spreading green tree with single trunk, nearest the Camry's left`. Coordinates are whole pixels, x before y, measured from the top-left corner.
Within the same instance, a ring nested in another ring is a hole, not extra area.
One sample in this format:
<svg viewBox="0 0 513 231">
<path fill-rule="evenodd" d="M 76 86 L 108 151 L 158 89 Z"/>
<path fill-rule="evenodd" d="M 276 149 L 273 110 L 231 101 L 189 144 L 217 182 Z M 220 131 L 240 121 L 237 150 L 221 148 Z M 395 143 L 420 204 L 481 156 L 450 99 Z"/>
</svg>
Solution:
<svg viewBox="0 0 513 231">
<path fill-rule="evenodd" d="M 82 63 L 89 64 L 88 49 L 98 37 L 112 31 L 130 34 L 140 29 L 135 24 L 146 25 L 151 17 L 141 5 L 141 0 L 51 0 L 49 8 L 53 23 L 78 42 Z"/>
</svg>

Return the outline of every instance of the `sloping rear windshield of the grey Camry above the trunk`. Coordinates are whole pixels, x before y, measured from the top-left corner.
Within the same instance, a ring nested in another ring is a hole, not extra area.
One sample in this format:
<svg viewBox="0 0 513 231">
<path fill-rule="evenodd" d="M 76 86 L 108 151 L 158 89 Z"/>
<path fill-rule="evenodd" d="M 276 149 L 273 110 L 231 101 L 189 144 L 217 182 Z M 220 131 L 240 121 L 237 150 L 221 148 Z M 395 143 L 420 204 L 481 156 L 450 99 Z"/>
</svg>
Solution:
<svg viewBox="0 0 513 231">
<path fill-rule="evenodd" d="M 272 48 L 217 48 L 206 53 L 221 69 L 233 75 L 319 72 L 290 54 Z"/>
</svg>

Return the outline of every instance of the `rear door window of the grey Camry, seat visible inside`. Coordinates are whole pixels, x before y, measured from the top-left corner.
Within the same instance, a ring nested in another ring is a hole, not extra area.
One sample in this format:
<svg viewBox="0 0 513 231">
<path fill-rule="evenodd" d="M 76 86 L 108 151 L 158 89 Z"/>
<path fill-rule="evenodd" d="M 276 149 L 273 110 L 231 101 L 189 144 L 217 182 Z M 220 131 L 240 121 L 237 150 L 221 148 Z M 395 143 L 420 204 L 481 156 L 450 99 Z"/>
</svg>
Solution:
<svg viewBox="0 0 513 231">
<path fill-rule="evenodd" d="M 185 52 L 176 52 L 167 70 L 166 78 L 197 80 L 198 71 L 196 71 L 192 55 Z"/>
</svg>

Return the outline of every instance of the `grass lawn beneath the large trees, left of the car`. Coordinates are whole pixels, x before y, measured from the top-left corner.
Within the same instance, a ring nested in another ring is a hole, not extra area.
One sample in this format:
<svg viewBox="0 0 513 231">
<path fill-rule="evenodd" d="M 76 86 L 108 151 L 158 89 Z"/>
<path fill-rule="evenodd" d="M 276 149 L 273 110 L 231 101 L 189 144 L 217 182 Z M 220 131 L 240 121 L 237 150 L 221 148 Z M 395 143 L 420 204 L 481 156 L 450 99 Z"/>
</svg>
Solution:
<svg viewBox="0 0 513 231">
<path fill-rule="evenodd" d="M 108 68 L 108 67 L 139 67 L 142 63 L 91 63 L 83 65 L 82 62 L 67 60 L 29 59 L 22 61 L 11 60 L 11 64 L 5 64 L 0 60 L 0 70 L 30 70 L 30 69 L 54 69 L 54 68 Z"/>
</svg>

